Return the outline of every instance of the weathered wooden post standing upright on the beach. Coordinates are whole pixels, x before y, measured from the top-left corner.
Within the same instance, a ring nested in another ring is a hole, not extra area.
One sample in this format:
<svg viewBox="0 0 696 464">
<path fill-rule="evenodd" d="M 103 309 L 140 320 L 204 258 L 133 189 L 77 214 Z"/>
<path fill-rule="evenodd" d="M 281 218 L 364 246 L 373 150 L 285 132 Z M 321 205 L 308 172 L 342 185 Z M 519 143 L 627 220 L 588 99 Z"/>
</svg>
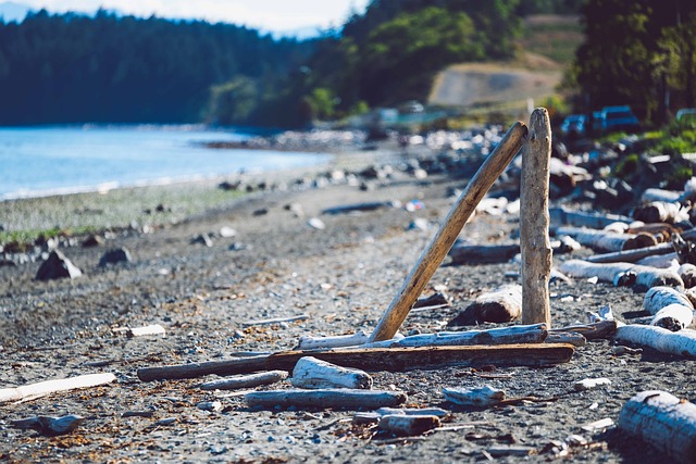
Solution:
<svg viewBox="0 0 696 464">
<path fill-rule="evenodd" d="M 551 327 L 549 276 L 551 246 L 548 238 L 548 181 L 551 159 L 551 124 L 548 112 L 537 108 L 522 147 L 520 189 L 520 250 L 522 252 L 522 324 Z"/>
</svg>

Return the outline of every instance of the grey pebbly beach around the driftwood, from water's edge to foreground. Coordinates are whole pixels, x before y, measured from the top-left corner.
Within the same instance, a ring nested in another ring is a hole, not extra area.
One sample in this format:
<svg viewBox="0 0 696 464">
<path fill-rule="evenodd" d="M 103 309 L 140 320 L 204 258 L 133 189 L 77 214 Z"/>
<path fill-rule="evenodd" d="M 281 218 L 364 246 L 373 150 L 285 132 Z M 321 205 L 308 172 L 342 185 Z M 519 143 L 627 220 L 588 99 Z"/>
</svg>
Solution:
<svg viewBox="0 0 696 464">
<path fill-rule="evenodd" d="M 138 378 L 144 367 L 291 350 L 308 335 L 370 333 L 499 136 L 498 128 L 443 133 L 369 150 L 351 142 L 333 150 L 330 165 L 306 172 L 0 204 L 5 230 L 80 230 L 28 249 L 4 243 L 0 389 L 115 375 L 100 387 L 0 404 L 0 462 L 664 462 L 616 424 L 638 391 L 693 401 L 696 364 L 650 349 L 620 353 L 611 338 L 577 347 L 570 362 L 548 367 L 371 372 L 373 389 L 406 393 L 405 406 L 446 410 L 439 428 L 409 437 L 353 424 L 355 411 L 252 407 L 244 391 L 200 388 L 215 376 Z M 593 170 L 613 155 L 608 148 L 601 153 L 572 154 L 584 156 L 585 165 L 568 162 L 568 153 L 557 158 L 576 170 L 557 172 L 552 206 L 629 213 L 624 186 L 605 181 L 607 189 L 593 179 Z M 519 188 L 515 166 L 492 189 L 509 203 Z M 117 208 L 119 215 L 109 216 Z M 517 243 L 519 220 L 514 208 L 482 209 L 461 244 Z M 80 276 L 36 278 L 55 247 Z M 114 250 L 122 253 L 104 260 Z M 589 254 L 585 248 L 554 261 L 559 266 Z M 440 266 L 423 297 L 442 293 L 447 304 L 412 311 L 401 334 L 444 330 L 477 297 L 517 283 L 519 271 L 514 260 Z M 551 283 L 552 324 L 586 323 L 588 312 L 607 305 L 619 321 L 631 321 L 643 298 L 631 287 L 558 278 Z M 133 328 L 152 325 L 164 335 L 133 336 Z M 610 381 L 574 387 L 586 378 Z M 445 388 L 483 386 L 514 401 L 461 406 L 444 394 Z M 274 388 L 290 384 L 256 390 Z M 65 435 L 13 426 L 29 416 L 71 414 L 84 421 Z"/>
</svg>

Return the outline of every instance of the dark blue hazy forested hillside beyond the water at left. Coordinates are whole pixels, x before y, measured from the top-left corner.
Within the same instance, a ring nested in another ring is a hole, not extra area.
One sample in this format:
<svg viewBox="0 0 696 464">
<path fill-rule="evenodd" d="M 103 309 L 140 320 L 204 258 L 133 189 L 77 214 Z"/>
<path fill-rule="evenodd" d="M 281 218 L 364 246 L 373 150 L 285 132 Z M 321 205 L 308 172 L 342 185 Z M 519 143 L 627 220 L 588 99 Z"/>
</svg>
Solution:
<svg viewBox="0 0 696 464">
<path fill-rule="evenodd" d="M 275 80 L 313 47 L 226 24 L 39 12 L 0 23 L 0 124 L 200 122 L 211 86 Z"/>
</svg>

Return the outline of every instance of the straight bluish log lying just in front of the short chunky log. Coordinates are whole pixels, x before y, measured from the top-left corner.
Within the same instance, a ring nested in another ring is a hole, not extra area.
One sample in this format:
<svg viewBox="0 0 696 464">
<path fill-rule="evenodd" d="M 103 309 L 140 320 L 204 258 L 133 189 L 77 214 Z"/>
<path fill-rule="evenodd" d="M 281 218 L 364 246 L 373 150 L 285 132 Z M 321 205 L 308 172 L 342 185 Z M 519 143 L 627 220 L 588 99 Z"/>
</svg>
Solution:
<svg viewBox="0 0 696 464">
<path fill-rule="evenodd" d="M 406 402 L 402 391 L 350 390 L 327 388 L 321 390 L 268 390 L 252 391 L 244 397 L 249 407 L 336 407 L 346 410 L 376 410 Z"/>
</svg>

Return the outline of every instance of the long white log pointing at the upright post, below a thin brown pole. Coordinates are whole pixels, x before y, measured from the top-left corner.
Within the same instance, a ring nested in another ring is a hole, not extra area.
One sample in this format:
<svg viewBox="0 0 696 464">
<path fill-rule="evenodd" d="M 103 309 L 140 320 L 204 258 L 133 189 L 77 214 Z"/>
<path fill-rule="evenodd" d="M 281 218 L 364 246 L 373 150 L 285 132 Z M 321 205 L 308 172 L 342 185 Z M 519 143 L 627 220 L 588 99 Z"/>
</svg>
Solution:
<svg viewBox="0 0 696 464">
<path fill-rule="evenodd" d="M 674 272 L 633 263 L 588 263 L 583 260 L 569 260 L 561 264 L 560 269 L 571 277 L 597 277 L 599 280 L 611 283 L 614 286 L 684 287 L 682 278 Z"/>
</svg>

